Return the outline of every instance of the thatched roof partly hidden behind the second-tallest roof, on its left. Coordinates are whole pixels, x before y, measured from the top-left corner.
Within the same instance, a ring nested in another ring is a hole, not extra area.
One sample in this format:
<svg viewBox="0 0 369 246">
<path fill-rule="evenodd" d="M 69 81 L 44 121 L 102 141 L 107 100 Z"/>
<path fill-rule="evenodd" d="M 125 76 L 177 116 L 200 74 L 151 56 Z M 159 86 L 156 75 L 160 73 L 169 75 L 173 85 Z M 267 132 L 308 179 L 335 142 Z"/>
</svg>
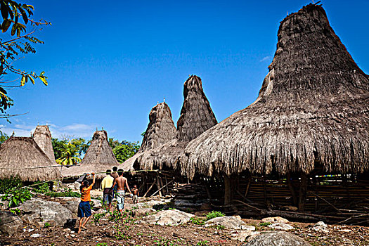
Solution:
<svg viewBox="0 0 369 246">
<path fill-rule="evenodd" d="M 136 155 L 122 164 L 124 171 L 134 170 L 134 162 L 143 152 L 157 148 L 171 139 L 176 138 L 176 127 L 174 126 L 171 111 L 167 103 L 157 104 L 150 111 L 148 118 L 148 128 L 145 131 L 145 136 L 143 136 L 141 147 Z"/>
</svg>

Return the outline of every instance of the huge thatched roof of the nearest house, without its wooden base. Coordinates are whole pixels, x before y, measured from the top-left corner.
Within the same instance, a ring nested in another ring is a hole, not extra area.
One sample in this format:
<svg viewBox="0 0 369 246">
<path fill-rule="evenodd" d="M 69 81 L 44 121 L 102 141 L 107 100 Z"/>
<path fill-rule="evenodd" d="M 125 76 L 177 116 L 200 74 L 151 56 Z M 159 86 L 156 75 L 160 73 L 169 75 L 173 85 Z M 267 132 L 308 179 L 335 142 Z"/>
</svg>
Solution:
<svg viewBox="0 0 369 246">
<path fill-rule="evenodd" d="M 360 173 L 369 166 L 369 76 L 321 6 L 288 15 L 257 101 L 190 142 L 183 174 Z"/>
</svg>

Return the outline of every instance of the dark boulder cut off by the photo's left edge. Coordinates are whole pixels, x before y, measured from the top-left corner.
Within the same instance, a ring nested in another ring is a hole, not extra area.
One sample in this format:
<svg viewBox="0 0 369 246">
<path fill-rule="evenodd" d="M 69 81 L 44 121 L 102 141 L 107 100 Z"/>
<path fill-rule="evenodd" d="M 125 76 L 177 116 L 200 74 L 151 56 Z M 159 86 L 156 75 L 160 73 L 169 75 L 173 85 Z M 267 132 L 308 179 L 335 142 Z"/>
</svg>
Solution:
<svg viewBox="0 0 369 246">
<path fill-rule="evenodd" d="M 0 211 L 0 232 L 2 235 L 13 236 L 22 233 L 23 221 L 11 212 Z"/>
</svg>

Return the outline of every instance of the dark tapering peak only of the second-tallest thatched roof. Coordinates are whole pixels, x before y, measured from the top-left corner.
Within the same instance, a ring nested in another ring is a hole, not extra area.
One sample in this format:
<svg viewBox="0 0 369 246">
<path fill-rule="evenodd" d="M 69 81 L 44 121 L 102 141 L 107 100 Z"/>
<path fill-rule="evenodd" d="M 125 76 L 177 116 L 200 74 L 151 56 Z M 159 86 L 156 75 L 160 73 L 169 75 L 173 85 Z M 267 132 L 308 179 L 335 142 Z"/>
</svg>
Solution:
<svg viewBox="0 0 369 246">
<path fill-rule="evenodd" d="M 183 105 L 177 122 L 177 139 L 191 141 L 217 122 L 202 89 L 200 77 L 191 75 L 183 85 Z"/>
</svg>

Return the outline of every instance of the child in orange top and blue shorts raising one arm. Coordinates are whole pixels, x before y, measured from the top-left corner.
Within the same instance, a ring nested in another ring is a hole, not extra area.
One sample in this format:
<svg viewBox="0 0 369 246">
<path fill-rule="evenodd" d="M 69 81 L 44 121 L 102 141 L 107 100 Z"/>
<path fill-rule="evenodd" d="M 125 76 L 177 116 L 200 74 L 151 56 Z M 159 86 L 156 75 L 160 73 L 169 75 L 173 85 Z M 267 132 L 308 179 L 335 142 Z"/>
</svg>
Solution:
<svg viewBox="0 0 369 246">
<path fill-rule="evenodd" d="M 95 184 L 95 174 L 92 173 L 92 183 L 89 186 L 89 181 L 85 180 L 82 182 L 81 187 L 79 190 L 81 191 L 81 202 L 78 205 L 78 218 L 79 218 L 79 226 L 78 226 L 78 233 L 81 233 L 81 228 L 86 229 L 85 225 L 87 221 L 91 218 L 91 190 L 93 185 Z"/>
</svg>

